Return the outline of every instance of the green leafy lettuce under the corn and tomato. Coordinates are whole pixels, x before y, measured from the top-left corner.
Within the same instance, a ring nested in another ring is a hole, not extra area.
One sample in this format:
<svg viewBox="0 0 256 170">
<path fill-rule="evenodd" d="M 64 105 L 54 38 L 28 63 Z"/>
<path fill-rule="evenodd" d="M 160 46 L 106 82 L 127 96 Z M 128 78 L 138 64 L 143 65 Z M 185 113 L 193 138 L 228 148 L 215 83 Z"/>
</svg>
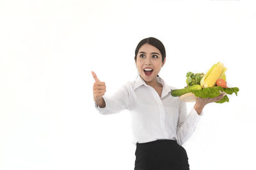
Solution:
<svg viewBox="0 0 256 170">
<path fill-rule="evenodd" d="M 233 94 L 235 93 L 237 96 L 237 92 L 239 91 L 239 89 L 237 87 L 230 87 L 227 89 L 223 89 L 220 86 L 214 86 L 214 87 L 207 87 L 201 90 L 193 90 L 193 94 L 195 94 L 196 97 L 202 97 L 202 98 L 213 98 L 213 97 L 217 97 L 220 96 L 220 92 L 225 92 L 226 94 Z M 220 101 L 216 101 L 215 103 L 225 103 L 228 102 L 228 96 L 225 95 L 223 97 L 223 99 L 221 99 Z"/>
</svg>

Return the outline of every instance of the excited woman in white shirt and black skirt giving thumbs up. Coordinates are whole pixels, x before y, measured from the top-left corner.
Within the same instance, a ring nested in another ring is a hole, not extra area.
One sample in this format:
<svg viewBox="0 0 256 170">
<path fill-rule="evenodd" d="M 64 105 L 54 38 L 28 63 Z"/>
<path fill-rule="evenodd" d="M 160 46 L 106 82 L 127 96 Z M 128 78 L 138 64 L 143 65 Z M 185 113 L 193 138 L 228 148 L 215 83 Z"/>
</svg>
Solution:
<svg viewBox="0 0 256 170">
<path fill-rule="evenodd" d="M 93 99 L 99 113 L 108 115 L 124 109 L 131 112 L 133 143 L 136 145 L 134 170 L 189 169 L 188 155 L 181 146 L 189 139 L 203 115 L 206 104 L 219 101 L 198 97 L 187 113 L 186 103 L 172 97 L 172 89 L 158 73 L 166 62 L 163 43 L 145 38 L 135 50 L 138 76 L 128 81 L 111 97 L 104 96 L 106 84 L 92 71 Z"/>
</svg>

